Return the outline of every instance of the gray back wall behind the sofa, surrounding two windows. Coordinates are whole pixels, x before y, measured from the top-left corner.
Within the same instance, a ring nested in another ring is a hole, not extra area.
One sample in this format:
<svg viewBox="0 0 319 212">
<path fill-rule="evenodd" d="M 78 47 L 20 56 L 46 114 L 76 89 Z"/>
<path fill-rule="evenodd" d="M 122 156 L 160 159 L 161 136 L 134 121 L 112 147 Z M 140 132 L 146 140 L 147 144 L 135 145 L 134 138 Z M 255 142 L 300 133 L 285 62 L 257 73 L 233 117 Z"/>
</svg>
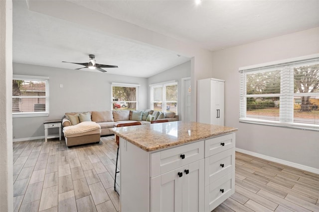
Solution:
<svg viewBox="0 0 319 212">
<path fill-rule="evenodd" d="M 13 74 L 49 77 L 49 116 L 13 118 L 13 140 L 44 137 L 43 121 L 61 119 L 65 112 L 111 110 L 113 82 L 139 84 L 138 108 L 148 108 L 147 78 L 20 63 L 13 63 Z"/>
</svg>

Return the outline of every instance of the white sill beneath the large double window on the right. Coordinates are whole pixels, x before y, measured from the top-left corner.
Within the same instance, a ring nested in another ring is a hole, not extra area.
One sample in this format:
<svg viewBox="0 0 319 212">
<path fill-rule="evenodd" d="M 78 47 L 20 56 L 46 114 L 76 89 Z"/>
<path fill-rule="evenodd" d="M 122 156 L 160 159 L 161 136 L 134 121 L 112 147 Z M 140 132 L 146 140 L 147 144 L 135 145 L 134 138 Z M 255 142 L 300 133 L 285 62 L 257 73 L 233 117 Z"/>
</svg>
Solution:
<svg viewBox="0 0 319 212">
<path fill-rule="evenodd" d="M 260 119 L 254 119 L 254 118 L 239 118 L 239 122 L 285 127 L 285 128 L 292 128 L 292 129 L 311 130 L 311 131 L 319 132 L 319 125 L 317 124 L 288 123 L 288 122 L 281 122 L 281 121 L 260 120 Z"/>
</svg>

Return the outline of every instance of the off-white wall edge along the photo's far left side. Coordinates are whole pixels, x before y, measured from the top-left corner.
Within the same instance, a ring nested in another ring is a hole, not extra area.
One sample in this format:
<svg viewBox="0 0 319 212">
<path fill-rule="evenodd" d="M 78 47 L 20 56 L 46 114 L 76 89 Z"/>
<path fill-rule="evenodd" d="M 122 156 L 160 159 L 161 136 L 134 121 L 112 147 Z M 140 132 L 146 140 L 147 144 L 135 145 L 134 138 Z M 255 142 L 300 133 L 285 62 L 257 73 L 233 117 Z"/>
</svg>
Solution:
<svg viewBox="0 0 319 212">
<path fill-rule="evenodd" d="M 11 0 L 0 0 L 0 29 L 0 211 L 11 212 L 13 211 Z"/>
</svg>

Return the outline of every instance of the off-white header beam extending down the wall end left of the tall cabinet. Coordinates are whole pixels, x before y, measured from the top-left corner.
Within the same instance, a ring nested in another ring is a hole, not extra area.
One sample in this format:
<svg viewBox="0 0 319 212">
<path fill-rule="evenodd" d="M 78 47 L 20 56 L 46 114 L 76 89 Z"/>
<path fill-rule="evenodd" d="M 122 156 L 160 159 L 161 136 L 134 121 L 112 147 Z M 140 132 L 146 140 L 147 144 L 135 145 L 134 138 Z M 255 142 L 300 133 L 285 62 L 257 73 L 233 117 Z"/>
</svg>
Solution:
<svg viewBox="0 0 319 212">
<path fill-rule="evenodd" d="M 212 70 L 211 52 L 185 43 L 178 39 L 142 28 L 70 1 L 28 1 L 29 9 L 35 12 L 58 17 L 87 27 L 96 28 L 106 34 L 114 35 L 130 41 L 157 46 L 191 59 L 191 102 L 196 102 L 197 80 L 210 77 Z M 63 10 L 61 10 L 63 8 Z M 68 11 L 68 12 L 64 12 Z M 73 12 L 72 12 L 73 11 Z M 191 106 L 192 120 L 196 121 L 197 106 Z"/>
</svg>

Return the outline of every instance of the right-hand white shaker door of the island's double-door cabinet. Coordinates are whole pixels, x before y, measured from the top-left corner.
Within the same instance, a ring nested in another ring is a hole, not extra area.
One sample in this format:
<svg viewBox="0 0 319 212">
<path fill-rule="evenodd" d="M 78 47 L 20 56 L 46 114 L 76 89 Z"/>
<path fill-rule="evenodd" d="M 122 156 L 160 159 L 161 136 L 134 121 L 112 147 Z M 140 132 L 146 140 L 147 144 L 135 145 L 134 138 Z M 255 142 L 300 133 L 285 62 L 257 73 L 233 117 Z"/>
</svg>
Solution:
<svg viewBox="0 0 319 212">
<path fill-rule="evenodd" d="M 204 159 L 182 167 L 182 211 L 204 211 Z"/>
</svg>

